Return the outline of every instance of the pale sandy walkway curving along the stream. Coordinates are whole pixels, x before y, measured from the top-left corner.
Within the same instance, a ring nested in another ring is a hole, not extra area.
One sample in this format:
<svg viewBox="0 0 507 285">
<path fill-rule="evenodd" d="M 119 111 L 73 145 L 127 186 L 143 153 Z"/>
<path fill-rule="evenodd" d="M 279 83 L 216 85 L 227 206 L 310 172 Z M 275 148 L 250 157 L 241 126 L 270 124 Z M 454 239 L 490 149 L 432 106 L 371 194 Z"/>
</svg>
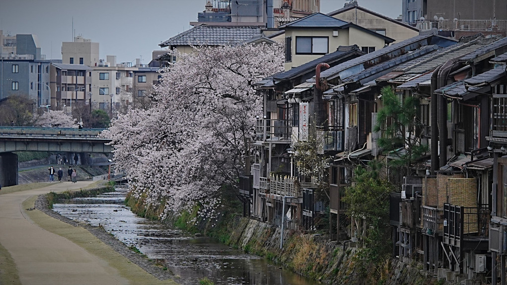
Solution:
<svg viewBox="0 0 507 285">
<path fill-rule="evenodd" d="M 115 255 L 117 253 L 112 249 L 107 249 L 107 246 L 88 231 L 53 219 L 38 210 L 28 212 L 24 209 L 33 207 L 27 205 L 33 205 L 34 195 L 79 189 L 91 183 L 91 181 L 55 182 L 41 189 L 0 195 L 0 244 L 16 263 L 22 284 L 137 283 L 129 281 L 128 274 L 124 274 L 125 269 L 127 271 L 132 269 L 128 267 L 123 269 L 115 265 L 115 260 L 118 262 L 121 260 Z M 27 199 L 32 200 L 31 204 L 23 203 Z M 59 234 L 71 236 L 70 240 Z M 88 237 L 88 234 L 91 237 Z M 88 242 L 93 245 L 83 246 L 83 243 L 88 244 Z M 112 251 L 111 258 L 104 258 L 104 255 L 96 252 L 92 254 L 89 249 L 91 246 L 100 248 L 102 253 L 107 250 Z M 157 281 L 155 282 L 158 283 Z"/>
</svg>

